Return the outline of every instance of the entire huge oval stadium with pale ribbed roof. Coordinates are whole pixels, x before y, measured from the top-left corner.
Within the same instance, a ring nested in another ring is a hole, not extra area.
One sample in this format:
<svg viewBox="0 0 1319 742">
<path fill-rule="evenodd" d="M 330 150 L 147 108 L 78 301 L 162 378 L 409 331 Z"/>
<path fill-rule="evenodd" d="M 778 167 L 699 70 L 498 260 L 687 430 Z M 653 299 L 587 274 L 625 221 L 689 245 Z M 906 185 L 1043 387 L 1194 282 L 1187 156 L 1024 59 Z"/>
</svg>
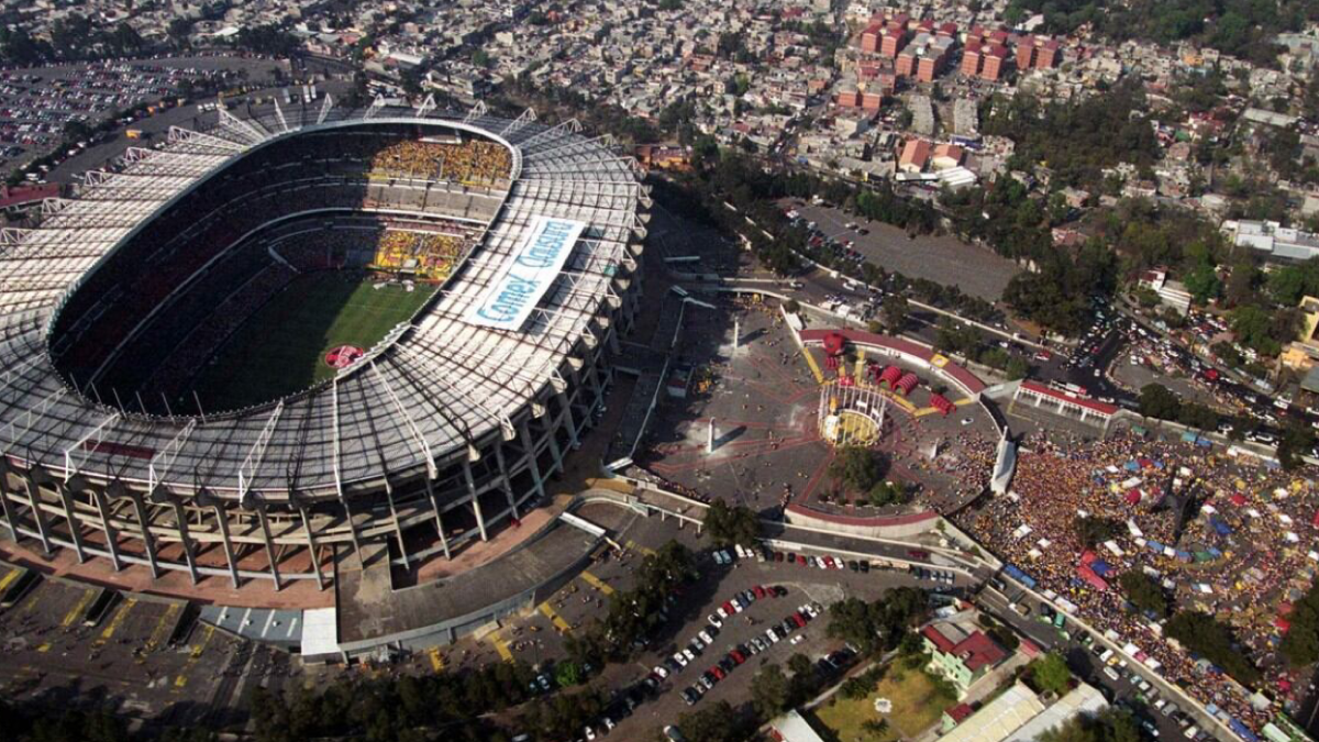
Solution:
<svg viewBox="0 0 1319 742">
<path fill-rule="evenodd" d="M 646 206 L 530 111 L 276 100 L 131 148 L 0 234 L 0 516 L 193 584 L 448 558 L 598 415 Z"/>
</svg>

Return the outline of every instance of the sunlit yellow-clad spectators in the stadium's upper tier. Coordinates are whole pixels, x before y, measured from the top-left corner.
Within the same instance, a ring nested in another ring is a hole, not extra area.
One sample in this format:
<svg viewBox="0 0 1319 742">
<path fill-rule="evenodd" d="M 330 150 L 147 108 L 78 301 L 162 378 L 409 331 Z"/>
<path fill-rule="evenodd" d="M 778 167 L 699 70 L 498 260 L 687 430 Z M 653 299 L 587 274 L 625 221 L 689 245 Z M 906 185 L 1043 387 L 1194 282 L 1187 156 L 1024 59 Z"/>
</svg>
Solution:
<svg viewBox="0 0 1319 742">
<path fill-rule="evenodd" d="M 493 141 L 442 143 L 404 140 L 385 147 L 371 160 L 371 172 L 388 176 L 488 185 L 508 180 L 513 170 L 509 151 Z"/>
</svg>

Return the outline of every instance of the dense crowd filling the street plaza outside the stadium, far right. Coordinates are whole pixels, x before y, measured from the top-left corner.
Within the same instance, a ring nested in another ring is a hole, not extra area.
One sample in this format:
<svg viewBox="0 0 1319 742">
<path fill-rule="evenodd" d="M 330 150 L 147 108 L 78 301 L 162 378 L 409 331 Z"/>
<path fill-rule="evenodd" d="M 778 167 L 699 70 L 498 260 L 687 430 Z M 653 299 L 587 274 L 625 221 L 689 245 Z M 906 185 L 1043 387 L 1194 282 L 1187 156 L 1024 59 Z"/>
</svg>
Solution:
<svg viewBox="0 0 1319 742">
<path fill-rule="evenodd" d="M 954 520 L 1038 589 L 1140 647 L 1166 679 L 1258 730 L 1274 709 L 1253 705 L 1256 689 L 1174 648 L 1154 617 L 1128 605 L 1117 576 L 1150 574 L 1173 610 L 1229 624 L 1270 681 L 1268 689 L 1285 701 L 1290 676 L 1275 647 L 1286 613 L 1319 564 L 1312 474 L 1132 433 L 1099 442 L 1031 437 L 1009 494 L 987 496 Z M 1086 543 L 1096 532 L 1087 536 L 1086 519 L 1109 524 L 1111 532 L 1100 529 L 1103 540 Z M 1079 572 L 1083 557 L 1104 565 L 1100 580 Z"/>
</svg>

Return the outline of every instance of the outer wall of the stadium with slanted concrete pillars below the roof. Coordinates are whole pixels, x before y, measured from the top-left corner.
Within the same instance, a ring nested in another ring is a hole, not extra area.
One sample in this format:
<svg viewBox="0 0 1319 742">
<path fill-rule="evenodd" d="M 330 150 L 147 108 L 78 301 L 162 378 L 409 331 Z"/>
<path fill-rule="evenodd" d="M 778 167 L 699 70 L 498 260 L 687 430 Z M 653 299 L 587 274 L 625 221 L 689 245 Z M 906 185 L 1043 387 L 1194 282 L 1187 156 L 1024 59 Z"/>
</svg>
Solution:
<svg viewBox="0 0 1319 742">
<path fill-rule="evenodd" d="M 516 181 L 521 156 L 510 149 Z M 630 330 L 638 308 L 642 277 L 633 259 L 642 252 L 644 234 L 628 242 L 609 283 L 612 300 L 600 297 L 592 330 L 563 355 L 557 378 L 543 379 L 526 404 L 508 412 L 512 429 L 496 426 L 466 449 L 437 454 L 434 478 L 425 466 L 384 469 L 373 481 L 344 482 L 338 498 L 290 491 L 286 500 L 266 500 L 249 491 L 239 502 L 204 489 L 185 494 L 157 483 L 146 491 L 136 481 L 66 475 L 11 452 L 0 455 L 0 535 L 47 557 L 69 549 L 79 562 L 106 558 L 116 572 L 136 565 L 153 578 L 182 572 L 194 585 L 228 578 L 235 588 L 269 580 L 276 590 L 298 580 L 326 589 L 334 581 L 332 551 L 368 540 L 390 543 L 397 548 L 392 561 L 404 566 L 488 540 L 500 523 L 546 499 L 546 482 L 594 424 L 612 380 L 619 334 Z M 425 544 L 419 549 L 418 541 Z M 282 566 L 293 561 L 290 551 L 309 555 L 309 566 Z"/>
</svg>

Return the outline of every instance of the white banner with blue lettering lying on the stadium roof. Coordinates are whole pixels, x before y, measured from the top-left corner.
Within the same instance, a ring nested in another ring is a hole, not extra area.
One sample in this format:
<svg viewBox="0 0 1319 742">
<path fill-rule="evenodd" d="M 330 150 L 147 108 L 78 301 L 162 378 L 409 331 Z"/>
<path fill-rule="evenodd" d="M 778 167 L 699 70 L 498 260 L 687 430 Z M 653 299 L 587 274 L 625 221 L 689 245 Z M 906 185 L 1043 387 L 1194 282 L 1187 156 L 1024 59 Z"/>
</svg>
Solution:
<svg viewBox="0 0 1319 742">
<path fill-rule="evenodd" d="M 526 238 L 463 321 L 496 330 L 521 327 L 563 269 L 583 230 L 586 224 L 572 219 L 533 219 Z"/>
</svg>

